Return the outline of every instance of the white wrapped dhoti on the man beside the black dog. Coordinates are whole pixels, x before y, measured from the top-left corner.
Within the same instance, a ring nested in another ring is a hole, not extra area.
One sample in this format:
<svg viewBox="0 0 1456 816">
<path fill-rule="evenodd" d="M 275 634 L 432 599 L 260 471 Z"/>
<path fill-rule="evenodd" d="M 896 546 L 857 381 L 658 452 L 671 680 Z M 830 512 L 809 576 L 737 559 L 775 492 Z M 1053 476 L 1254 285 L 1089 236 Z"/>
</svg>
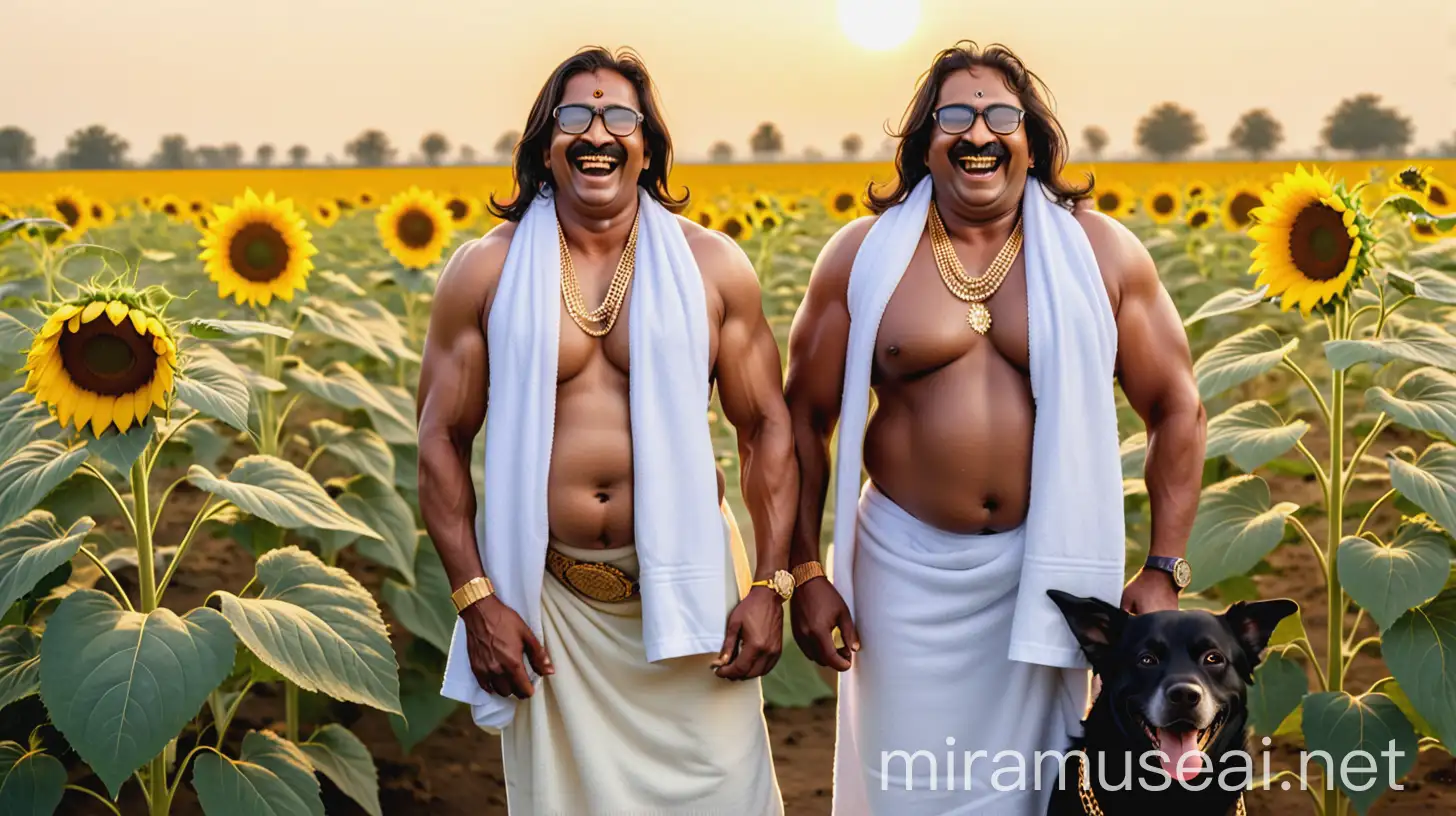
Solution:
<svg viewBox="0 0 1456 816">
<path fill-rule="evenodd" d="M 1089 672 L 1008 659 L 1025 526 L 946 533 L 872 484 L 858 513 L 834 815 L 1045 813 L 1060 759 L 1037 752 L 1080 733 Z"/>
</svg>

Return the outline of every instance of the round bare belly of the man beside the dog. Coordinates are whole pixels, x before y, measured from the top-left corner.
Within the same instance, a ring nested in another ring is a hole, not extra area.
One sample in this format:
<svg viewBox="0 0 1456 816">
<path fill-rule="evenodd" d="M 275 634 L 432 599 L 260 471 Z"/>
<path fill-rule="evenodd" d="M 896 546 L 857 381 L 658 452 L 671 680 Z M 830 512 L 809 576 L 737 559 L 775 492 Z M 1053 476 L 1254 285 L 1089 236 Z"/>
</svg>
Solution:
<svg viewBox="0 0 1456 816">
<path fill-rule="evenodd" d="M 1021 372 L 981 354 L 881 385 L 877 398 L 865 469 L 895 504 L 955 533 L 1025 520 L 1035 409 Z"/>
</svg>

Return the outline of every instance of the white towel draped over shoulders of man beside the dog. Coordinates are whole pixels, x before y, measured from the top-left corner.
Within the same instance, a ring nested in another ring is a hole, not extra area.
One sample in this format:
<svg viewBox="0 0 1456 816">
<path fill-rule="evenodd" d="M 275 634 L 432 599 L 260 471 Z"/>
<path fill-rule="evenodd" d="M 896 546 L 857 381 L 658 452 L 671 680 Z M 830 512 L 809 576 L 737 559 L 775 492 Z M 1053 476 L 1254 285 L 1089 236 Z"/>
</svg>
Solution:
<svg viewBox="0 0 1456 816">
<path fill-rule="evenodd" d="M 853 612 L 855 527 L 879 319 L 925 233 L 930 178 L 865 236 L 849 280 L 834 493 L 834 586 Z M 1125 527 L 1112 376 L 1117 323 L 1092 245 L 1037 179 L 1022 195 L 1031 342 L 1031 500 L 1009 657 L 1086 667 L 1048 589 L 1118 603 Z"/>
</svg>

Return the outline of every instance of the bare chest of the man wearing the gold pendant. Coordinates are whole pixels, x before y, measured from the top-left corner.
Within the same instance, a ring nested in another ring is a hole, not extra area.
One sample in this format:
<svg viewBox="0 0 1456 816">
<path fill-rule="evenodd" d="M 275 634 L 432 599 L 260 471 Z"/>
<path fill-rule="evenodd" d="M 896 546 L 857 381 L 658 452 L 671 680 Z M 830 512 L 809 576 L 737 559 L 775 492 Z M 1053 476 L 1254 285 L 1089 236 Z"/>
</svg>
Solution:
<svg viewBox="0 0 1456 816">
<path fill-rule="evenodd" d="M 993 353 L 1029 374 L 1026 274 L 1021 258 L 986 305 L 992 329 L 980 335 L 965 322 L 970 305 L 941 280 L 923 240 L 885 306 L 875 341 L 875 382 L 913 380 L 968 354 Z"/>
</svg>

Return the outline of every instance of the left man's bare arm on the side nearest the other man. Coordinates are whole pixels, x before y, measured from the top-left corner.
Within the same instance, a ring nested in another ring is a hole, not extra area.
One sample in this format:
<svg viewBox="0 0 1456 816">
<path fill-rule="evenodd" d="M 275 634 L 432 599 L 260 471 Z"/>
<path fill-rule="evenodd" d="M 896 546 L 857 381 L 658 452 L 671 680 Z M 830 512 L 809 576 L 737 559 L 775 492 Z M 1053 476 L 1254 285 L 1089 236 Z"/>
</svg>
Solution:
<svg viewBox="0 0 1456 816">
<path fill-rule="evenodd" d="M 779 344 L 763 316 L 759 275 L 743 249 L 706 230 L 695 235 L 695 243 L 724 305 L 715 379 L 724 418 L 738 434 L 743 498 L 759 551 L 754 580 L 763 580 L 788 568 L 798 494 Z M 728 618 L 716 673 L 734 680 L 763 676 L 782 648 L 783 602 L 773 589 L 754 587 Z"/>
</svg>

